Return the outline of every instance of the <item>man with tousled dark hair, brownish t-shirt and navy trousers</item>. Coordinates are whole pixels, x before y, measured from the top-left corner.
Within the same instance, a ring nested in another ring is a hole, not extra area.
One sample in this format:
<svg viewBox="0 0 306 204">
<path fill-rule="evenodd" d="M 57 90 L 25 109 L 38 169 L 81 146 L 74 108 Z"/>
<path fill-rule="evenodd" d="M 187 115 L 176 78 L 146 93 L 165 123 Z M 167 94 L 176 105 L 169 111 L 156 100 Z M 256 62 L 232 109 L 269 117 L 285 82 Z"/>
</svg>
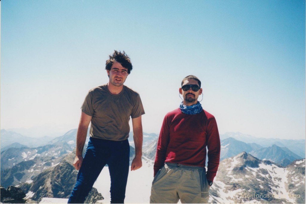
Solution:
<svg viewBox="0 0 306 204">
<path fill-rule="evenodd" d="M 142 166 L 142 123 L 144 108 L 139 94 L 123 85 L 132 63 L 123 51 L 114 51 L 106 61 L 109 82 L 91 89 L 81 107 L 73 166 L 79 170 L 68 203 L 84 203 L 95 180 L 107 164 L 110 172 L 110 203 L 124 203 L 129 174 L 129 120 L 132 118 L 135 158 L 131 171 Z M 90 138 L 82 155 L 89 123 Z"/>
</svg>

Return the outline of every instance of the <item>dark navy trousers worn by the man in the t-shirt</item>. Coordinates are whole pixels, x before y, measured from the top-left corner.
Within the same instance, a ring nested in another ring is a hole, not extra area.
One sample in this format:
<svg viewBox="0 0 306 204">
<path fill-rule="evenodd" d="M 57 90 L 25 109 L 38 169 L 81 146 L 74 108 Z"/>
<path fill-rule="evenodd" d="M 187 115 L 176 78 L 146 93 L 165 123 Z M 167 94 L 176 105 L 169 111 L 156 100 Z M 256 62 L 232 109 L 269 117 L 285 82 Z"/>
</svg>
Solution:
<svg viewBox="0 0 306 204">
<path fill-rule="evenodd" d="M 110 172 L 110 203 L 124 203 L 129 174 L 129 154 L 130 146 L 127 139 L 112 141 L 91 137 L 68 203 L 84 203 L 106 164 Z"/>
</svg>

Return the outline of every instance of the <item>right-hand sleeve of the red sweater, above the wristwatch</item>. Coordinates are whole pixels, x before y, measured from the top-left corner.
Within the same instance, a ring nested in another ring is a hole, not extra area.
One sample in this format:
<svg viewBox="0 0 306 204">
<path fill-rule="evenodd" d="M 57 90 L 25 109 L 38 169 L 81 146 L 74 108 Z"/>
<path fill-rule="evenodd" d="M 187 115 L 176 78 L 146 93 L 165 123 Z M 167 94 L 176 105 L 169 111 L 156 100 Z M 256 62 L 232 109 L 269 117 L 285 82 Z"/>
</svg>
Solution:
<svg viewBox="0 0 306 204">
<path fill-rule="evenodd" d="M 213 181 L 220 161 L 220 137 L 218 132 L 217 122 L 214 117 L 208 120 L 207 125 L 207 180 Z"/>
</svg>

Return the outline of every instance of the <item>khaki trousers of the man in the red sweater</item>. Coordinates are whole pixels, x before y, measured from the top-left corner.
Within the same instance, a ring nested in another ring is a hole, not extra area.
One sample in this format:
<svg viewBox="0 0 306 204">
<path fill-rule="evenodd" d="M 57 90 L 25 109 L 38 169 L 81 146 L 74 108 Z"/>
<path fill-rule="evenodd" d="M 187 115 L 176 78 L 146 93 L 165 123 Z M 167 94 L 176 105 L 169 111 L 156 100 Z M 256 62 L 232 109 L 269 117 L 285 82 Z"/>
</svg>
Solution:
<svg viewBox="0 0 306 204">
<path fill-rule="evenodd" d="M 205 168 L 166 163 L 154 177 L 150 203 L 208 203 Z"/>
</svg>

